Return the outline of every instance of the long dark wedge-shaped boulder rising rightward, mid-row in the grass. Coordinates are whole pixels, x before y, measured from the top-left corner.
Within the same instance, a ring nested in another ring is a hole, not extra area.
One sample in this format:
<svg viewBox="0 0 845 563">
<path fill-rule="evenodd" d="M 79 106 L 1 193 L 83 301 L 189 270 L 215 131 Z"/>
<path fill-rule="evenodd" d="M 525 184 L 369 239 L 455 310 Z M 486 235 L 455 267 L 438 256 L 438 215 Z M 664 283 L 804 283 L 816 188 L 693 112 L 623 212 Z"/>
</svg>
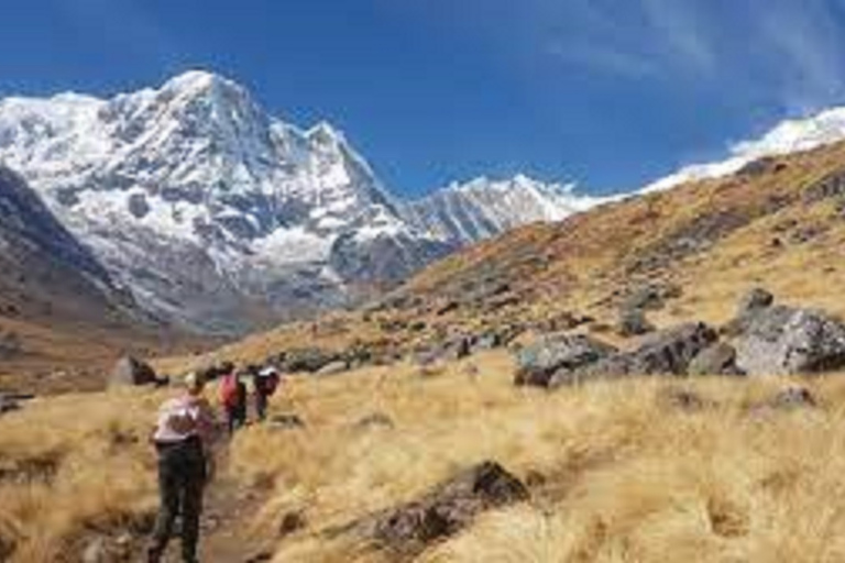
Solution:
<svg viewBox="0 0 845 563">
<path fill-rule="evenodd" d="M 681 324 L 647 336 L 639 347 L 580 369 L 556 374 L 553 386 L 627 375 L 685 375 L 690 363 L 717 339 L 703 322 Z"/>
</svg>

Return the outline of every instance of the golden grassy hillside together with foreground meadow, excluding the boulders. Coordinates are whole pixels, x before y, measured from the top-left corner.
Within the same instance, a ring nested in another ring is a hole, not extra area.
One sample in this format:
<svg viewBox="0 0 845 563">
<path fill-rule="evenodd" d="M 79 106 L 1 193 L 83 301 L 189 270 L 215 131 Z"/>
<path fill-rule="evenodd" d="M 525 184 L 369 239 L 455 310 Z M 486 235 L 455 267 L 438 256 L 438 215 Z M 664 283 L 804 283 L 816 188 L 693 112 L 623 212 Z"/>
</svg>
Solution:
<svg viewBox="0 0 845 563">
<path fill-rule="evenodd" d="M 505 350 L 426 367 L 408 357 L 511 324 L 518 341 L 578 324 L 625 347 L 635 341 L 613 324 L 648 285 L 673 288 L 647 311 L 657 325 L 722 324 L 754 286 L 845 316 L 843 243 L 845 145 L 834 145 L 530 225 L 361 311 L 160 358 L 178 374 L 306 346 L 405 357 L 295 376 L 273 415 L 304 426 L 253 426 L 221 448 L 206 560 L 407 560 L 350 525 L 493 460 L 530 499 L 486 511 L 417 561 L 842 561 L 843 374 L 628 377 L 547 393 L 513 385 Z M 767 406 L 791 385 L 817 406 Z M 146 433 L 166 393 L 40 399 L 0 418 L 0 560 L 80 561 L 98 541 L 116 561 L 139 552 L 155 505 Z"/>
</svg>

